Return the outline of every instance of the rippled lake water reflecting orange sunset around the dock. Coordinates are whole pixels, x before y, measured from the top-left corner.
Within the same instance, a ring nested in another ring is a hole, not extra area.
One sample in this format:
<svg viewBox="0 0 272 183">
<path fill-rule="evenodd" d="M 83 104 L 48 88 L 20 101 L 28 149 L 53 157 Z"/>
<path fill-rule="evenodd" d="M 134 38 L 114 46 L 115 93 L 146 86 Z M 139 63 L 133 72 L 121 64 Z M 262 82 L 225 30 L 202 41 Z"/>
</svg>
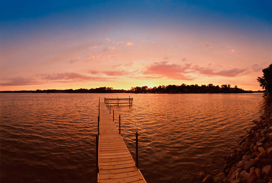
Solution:
<svg viewBox="0 0 272 183">
<path fill-rule="evenodd" d="M 112 109 L 134 158 L 139 132 L 148 183 L 220 172 L 222 156 L 259 119 L 264 102 L 262 93 L 0 93 L 2 182 L 95 182 L 99 96 L 129 95 L 133 106 Z"/>
</svg>

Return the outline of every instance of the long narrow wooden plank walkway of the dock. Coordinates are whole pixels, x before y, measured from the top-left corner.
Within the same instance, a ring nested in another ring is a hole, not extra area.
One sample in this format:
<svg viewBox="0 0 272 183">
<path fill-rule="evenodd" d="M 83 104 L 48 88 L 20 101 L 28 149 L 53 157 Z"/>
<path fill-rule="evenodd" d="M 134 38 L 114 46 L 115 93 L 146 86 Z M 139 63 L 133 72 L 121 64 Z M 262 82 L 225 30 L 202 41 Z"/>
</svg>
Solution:
<svg viewBox="0 0 272 183">
<path fill-rule="evenodd" d="M 112 120 L 104 101 L 100 101 L 98 182 L 146 183 Z"/>
</svg>

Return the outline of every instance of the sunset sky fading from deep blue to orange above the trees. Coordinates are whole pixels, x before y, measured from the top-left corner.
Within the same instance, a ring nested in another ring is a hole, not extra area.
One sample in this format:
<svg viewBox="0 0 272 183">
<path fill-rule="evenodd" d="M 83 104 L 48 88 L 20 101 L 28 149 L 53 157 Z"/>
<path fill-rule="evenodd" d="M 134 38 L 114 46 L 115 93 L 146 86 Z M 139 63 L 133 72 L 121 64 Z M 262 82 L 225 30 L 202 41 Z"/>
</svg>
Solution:
<svg viewBox="0 0 272 183">
<path fill-rule="evenodd" d="M 261 90 L 272 1 L 2 1 L 0 90 Z"/>
</svg>

